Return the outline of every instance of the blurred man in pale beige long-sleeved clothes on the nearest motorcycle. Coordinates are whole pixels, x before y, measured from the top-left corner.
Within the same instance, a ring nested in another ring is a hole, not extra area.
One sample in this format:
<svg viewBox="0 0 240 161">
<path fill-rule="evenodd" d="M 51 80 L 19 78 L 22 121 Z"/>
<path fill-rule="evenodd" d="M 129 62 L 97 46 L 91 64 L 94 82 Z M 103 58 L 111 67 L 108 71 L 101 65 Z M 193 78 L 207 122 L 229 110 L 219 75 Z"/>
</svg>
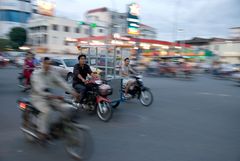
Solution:
<svg viewBox="0 0 240 161">
<path fill-rule="evenodd" d="M 75 92 L 68 84 L 54 72 L 51 68 L 51 60 L 45 57 L 42 63 L 42 69 L 35 70 L 31 78 L 32 91 L 30 94 L 32 104 L 40 111 L 38 115 L 38 132 L 41 140 L 46 140 L 48 137 L 48 124 L 50 114 L 54 110 L 60 111 L 61 114 L 67 117 L 71 112 L 71 105 L 61 101 L 63 97 L 53 95 L 50 89 L 58 86 L 71 93 L 74 97 L 79 94 Z"/>
</svg>

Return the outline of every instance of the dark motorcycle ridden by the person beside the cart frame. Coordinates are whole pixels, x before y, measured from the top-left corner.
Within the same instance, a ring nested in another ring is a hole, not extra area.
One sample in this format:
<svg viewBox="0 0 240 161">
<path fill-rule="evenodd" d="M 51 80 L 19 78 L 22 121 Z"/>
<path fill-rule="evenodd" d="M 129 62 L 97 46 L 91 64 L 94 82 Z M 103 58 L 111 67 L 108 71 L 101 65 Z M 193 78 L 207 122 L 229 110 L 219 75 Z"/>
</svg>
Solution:
<svg viewBox="0 0 240 161">
<path fill-rule="evenodd" d="M 129 99 L 137 98 L 140 103 L 144 106 L 150 106 L 153 103 L 153 94 L 151 90 L 144 86 L 142 76 L 131 76 L 135 79 L 134 83 L 129 87 L 128 94 L 131 95 L 131 98 L 121 97 L 119 101 L 112 102 L 111 105 L 113 108 L 117 108 L 121 101 L 126 101 Z M 122 93 L 125 93 L 125 87 L 122 88 Z"/>
</svg>

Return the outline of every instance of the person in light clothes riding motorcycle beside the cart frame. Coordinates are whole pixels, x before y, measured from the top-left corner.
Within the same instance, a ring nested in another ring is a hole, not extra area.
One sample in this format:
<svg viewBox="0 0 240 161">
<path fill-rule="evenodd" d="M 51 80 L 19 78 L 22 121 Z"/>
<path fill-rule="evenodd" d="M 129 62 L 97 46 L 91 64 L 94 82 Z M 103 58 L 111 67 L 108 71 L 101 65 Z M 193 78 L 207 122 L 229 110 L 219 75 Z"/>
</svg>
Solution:
<svg viewBox="0 0 240 161">
<path fill-rule="evenodd" d="M 131 95 L 128 93 L 128 91 L 129 91 L 129 88 L 131 87 L 131 85 L 135 82 L 135 79 L 130 78 L 130 74 L 136 75 L 137 72 L 131 68 L 129 58 L 124 59 L 124 64 L 122 66 L 121 74 L 123 77 L 123 85 L 125 86 L 124 97 L 130 98 Z"/>
</svg>

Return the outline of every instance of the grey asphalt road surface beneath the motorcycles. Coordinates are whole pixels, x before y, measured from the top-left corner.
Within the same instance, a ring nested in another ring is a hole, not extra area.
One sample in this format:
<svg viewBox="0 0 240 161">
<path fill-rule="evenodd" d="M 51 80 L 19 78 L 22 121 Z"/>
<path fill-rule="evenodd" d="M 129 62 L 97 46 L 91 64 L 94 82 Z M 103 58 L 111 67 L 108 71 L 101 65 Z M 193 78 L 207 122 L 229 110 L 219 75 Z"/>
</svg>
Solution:
<svg viewBox="0 0 240 161">
<path fill-rule="evenodd" d="M 63 144 L 43 148 L 26 142 L 16 100 L 15 68 L 0 69 L 0 161 L 71 161 Z M 154 103 L 123 103 L 113 119 L 101 122 L 82 113 L 91 127 L 91 161 L 239 161 L 240 87 L 200 75 L 193 81 L 145 78 Z"/>
</svg>

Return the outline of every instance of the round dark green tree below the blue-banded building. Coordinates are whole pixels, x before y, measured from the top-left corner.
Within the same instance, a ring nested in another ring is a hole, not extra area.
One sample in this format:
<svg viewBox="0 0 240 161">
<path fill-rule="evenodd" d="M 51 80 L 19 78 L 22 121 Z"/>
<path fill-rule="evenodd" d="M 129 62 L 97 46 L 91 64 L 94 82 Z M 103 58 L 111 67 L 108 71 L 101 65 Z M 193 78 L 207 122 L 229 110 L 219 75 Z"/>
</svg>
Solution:
<svg viewBox="0 0 240 161">
<path fill-rule="evenodd" d="M 14 27 L 9 32 L 9 38 L 20 47 L 23 46 L 27 40 L 27 32 L 22 27 Z"/>
</svg>

